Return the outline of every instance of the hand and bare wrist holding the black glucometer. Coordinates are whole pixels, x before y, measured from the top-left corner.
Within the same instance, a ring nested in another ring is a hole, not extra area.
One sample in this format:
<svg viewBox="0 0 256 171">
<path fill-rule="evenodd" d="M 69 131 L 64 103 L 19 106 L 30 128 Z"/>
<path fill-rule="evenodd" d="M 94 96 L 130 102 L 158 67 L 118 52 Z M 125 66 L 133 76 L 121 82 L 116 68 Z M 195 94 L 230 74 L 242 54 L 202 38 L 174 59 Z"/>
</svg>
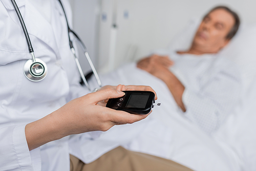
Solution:
<svg viewBox="0 0 256 171">
<path fill-rule="evenodd" d="M 107 131 L 114 125 L 133 123 L 149 115 L 134 115 L 97 104 L 123 95 L 121 91 L 105 88 L 71 100 L 57 111 L 27 124 L 25 133 L 29 149 L 72 134 Z"/>
</svg>

